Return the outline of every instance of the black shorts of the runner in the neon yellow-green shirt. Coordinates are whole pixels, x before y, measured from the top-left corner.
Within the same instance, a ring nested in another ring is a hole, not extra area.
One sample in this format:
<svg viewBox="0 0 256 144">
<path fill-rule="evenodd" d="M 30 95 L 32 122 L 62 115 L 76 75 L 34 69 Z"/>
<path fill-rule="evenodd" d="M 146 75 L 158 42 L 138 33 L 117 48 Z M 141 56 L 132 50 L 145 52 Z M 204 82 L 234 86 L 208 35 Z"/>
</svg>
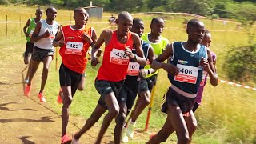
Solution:
<svg viewBox="0 0 256 144">
<path fill-rule="evenodd" d="M 138 89 L 138 93 L 141 93 L 142 91 L 147 91 L 149 90 L 150 93 L 153 89 L 153 86 L 156 83 L 157 80 L 157 74 L 152 75 L 149 78 L 141 78 L 141 81 L 139 82 L 139 89 Z"/>
</svg>

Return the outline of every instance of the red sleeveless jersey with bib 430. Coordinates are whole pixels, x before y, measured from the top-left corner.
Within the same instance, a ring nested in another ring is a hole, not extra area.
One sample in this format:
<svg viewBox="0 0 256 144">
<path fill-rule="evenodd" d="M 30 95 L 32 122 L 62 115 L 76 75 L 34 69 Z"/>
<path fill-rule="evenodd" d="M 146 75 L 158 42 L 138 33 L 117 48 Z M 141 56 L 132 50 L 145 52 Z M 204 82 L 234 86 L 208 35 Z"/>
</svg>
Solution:
<svg viewBox="0 0 256 144">
<path fill-rule="evenodd" d="M 102 66 L 98 70 L 98 80 L 119 82 L 126 78 L 129 65 L 129 57 L 125 54 L 125 46 L 132 49 L 134 44 L 130 32 L 127 34 L 127 42 L 119 43 L 117 31 L 112 34 L 110 43 L 105 47 Z"/>
</svg>

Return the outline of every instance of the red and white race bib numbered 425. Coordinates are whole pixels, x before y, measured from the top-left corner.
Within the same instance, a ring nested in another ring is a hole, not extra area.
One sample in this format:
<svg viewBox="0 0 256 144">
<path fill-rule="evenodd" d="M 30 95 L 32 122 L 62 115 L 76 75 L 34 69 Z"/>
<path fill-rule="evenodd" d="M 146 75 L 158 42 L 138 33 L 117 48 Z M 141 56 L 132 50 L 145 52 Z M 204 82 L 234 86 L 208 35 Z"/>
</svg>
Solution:
<svg viewBox="0 0 256 144">
<path fill-rule="evenodd" d="M 82 42 L 66 42 L 66 54 L 82 55 Z"/>
</svg>

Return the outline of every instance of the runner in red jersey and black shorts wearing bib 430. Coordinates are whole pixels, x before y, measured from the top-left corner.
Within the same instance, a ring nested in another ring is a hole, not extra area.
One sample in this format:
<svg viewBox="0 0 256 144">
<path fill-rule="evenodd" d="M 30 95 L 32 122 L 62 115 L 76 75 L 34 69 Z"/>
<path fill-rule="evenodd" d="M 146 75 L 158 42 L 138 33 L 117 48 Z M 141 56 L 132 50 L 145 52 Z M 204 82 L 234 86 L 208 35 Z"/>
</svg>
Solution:
<svg viewBox="0 0 256 144">
<path fill-rule="evenodd" d="M 118 92 L 122 88 L 123 81 L 126 78 L 126 73 L 129 66 L 129 60 L 146 65 L 146 58 L 144 58 L 140 38 L 138 34 L 130 32 L 132 26 L 131 15 L 123 11 L 118 14 L 117 30 L 103 30 L 94 47 L 92 48 L 92 66 L 98 64 L 96 54 L 98 48 L 105 43 L 105 50 L 103 54 L 102 66 L 98 70 L 98 76 L 95 79 L 95 88 L 101 95 L 94 112 L 87 119 L 86 124 L 78 133 L 74 134 L 73 143 L 77 144 L 78 139 L 84 134 L 95 122 L 108 110 L 108 113 L 103 119 L 101 130 L 98 133 L 98 138 L 94 143 L 101 143 L 102 137 L 110 122 L 118 115 Z M 138 55 L 132 53 L 132 48 L 135 48 Z M 120 133 L 121 134 L 121 133 Z M 120 137 L 119 137 L 120 138 Z M 115 140 L 116 143 L 118 141 Z"/>
</svg>

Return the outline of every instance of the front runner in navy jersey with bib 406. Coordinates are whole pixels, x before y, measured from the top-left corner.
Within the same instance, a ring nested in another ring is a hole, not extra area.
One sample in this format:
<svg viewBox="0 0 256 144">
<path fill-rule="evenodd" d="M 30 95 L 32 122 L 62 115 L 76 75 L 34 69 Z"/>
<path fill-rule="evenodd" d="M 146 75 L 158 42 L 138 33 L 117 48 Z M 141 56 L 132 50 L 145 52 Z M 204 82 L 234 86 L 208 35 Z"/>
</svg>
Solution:
<svg viewBox="0 0 256 144">
<path fill-rule="evenodd" d="M 171 86 L 162 105 L 162 111 L 167 113 L 166 122 L 147 143 L 165 142 L 174 131 L 177 143 L 191 143 L 194 130 L 190 127 L 197 126 L 192 108 L 202 81 L 202 70 L 214 75 L 210 50 L 200 44 L 205 30 L 200 20 L 191 19 L 186 29 L 187 41 L 173 42 L 151 64 L 152 68 L 166 70 Z M 166 59 L 169 59 L 167 63 Z"/>
</svg>

